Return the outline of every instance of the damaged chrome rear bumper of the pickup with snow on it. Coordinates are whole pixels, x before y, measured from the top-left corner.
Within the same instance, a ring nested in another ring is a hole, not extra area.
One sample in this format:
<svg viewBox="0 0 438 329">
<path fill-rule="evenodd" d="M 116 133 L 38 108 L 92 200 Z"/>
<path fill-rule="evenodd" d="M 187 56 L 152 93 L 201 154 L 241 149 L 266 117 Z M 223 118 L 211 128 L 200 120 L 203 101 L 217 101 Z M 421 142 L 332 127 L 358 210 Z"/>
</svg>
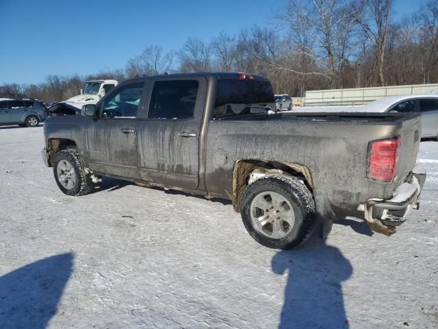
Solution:
<svg viewBox="0 0 438 329">
<path fill-rule="evenodd" d="M 412 175 L 392 195 L 391 199 L 368 199 L 365 202 L 365 220 L 374 232 L 391 235 L 396 226 L 404 223 L 411 208 L 420 208 L 420 194 L 426 181 L 426 172 L 415 165 Z"/>
</svg>

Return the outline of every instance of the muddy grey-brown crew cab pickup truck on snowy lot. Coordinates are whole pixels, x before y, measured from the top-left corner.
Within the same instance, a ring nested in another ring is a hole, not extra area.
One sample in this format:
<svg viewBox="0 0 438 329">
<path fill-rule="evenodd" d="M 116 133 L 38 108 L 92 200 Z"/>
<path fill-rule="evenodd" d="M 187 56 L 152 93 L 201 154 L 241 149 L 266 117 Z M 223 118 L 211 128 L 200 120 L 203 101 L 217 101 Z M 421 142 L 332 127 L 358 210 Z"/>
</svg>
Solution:
<svg viewBox="0 0 438 329">
<path fill-rule="evenodd" d="M 426 179 L 416 114 L 275 113 L 270 82 L 247 73 L 139 77 L 82 111 L 44 124 L 63 193 L 85 195 L 105 175 L 231 199 L 272 248 L 347 216 L 391 235 Z"/>
</svg>

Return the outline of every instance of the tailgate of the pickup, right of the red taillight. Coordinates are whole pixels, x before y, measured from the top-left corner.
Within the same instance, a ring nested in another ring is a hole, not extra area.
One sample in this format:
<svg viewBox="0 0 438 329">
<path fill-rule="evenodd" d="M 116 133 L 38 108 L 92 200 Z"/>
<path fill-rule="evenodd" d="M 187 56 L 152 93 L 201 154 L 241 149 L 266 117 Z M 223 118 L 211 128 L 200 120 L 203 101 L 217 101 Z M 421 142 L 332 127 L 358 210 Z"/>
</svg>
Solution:
<svg viewBox="0 0 438 329">
<path fill-rule="evenodd" d="M 395 180 L 396 186 L 404 182 L 411 173 L 415 162 L 417 162 L 417 153 L 420 147 L 421 137 L 421 117 L 406 117 L 402 119 L 402 127 L 400 128 L 400 153 L 398 156 L 398 170 Z"/>
</svg>

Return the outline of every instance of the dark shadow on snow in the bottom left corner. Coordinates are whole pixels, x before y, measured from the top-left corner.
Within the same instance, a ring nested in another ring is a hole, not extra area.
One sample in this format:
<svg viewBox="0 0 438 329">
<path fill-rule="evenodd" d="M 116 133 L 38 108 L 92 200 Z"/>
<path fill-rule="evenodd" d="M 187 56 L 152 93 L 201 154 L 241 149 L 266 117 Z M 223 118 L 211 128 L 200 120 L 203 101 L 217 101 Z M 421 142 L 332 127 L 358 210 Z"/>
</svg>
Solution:
<svg viewBox="0 0 438 329">
<path fill-rule="evenodd" d="M 0 328 L 44 329 L 70 278 L 73 254 L 38 260 L 0 277 Z"/>
</svg>

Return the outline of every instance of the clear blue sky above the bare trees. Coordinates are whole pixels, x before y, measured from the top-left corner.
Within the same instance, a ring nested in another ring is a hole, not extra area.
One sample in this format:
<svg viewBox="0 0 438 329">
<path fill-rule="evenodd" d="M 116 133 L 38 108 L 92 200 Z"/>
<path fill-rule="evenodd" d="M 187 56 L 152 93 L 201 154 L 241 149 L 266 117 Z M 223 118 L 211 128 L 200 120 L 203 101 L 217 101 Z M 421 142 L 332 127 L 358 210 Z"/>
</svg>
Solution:
<svg viewBox="0 0 438 329">
<path fill-rule="evenodd" d="M 395 0 L 397 16 L 426 0 Z M 287 0 L 0 0 L 0 84 L 123 69 L 146 45 L 272 25 Z"/>
</svg>

